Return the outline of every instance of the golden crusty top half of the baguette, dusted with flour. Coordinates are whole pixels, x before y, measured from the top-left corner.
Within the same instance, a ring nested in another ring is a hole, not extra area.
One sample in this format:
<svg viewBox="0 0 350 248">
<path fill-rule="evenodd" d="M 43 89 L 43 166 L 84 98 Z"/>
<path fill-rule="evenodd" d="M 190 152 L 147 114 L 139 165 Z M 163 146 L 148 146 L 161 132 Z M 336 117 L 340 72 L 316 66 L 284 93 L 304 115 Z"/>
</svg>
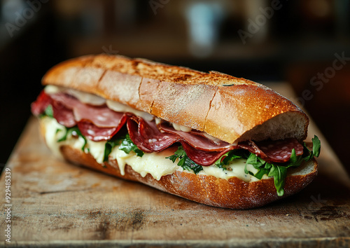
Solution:
<svg viewBox="0 0 350 248">
<path fill-rule="evenodd" d="M 99 95 L 228 143 L 307 137 L 309 118 L 293 102 L 264 85 L 216 71 L 87 55 L 52 67 L 43 85 Z"/>
</svg>

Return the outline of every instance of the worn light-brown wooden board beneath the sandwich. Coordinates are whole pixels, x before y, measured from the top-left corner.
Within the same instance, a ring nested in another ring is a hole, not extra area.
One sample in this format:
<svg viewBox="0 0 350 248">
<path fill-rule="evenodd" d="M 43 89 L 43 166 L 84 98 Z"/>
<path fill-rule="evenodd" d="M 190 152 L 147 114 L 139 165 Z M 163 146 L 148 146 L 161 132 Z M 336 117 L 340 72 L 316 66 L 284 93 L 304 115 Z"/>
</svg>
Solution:
<svg viewBox="0 0 350 248">
<path fill-rule="evenodd" d="M 272 85 L 291 96 L 288 84 Z M 35 247 L 349 247 L 350 179 L 322 142 L 318 177 L 304 191 L 265 207 L 209 207 L 142 184 L 57 160 L 34 118 L 6 168 L 11 179 L 11 243 Z M 5 186 L 5 172 L 1 174 Z M 3 199 L 3 209 L 6 209 Z M 1 245 L 6 212 L 1 216 Z"/>
</svg>

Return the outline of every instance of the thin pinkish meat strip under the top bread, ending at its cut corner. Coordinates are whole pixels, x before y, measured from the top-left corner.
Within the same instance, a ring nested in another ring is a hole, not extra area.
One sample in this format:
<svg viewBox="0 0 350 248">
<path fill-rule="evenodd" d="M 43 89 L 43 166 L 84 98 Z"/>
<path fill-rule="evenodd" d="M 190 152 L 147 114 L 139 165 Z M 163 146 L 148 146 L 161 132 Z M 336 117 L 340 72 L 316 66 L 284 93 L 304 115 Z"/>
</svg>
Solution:
<svg viewBox="0 0 350 248">
<path fill-rule="evenodd" d="M 164 132 L 169 132 L 181 137 L 181 141 L 186 142 L 190 144 L 190 146 L 193 146 L 193 148 L 202 151 L 224 151 L 232 146 L 232 144 L 228 144 L 227 142 L 223 141 L 215 143 L 213 140 L 207 139 L 206 137 L 200 135 L 199 132 L 183 132 L 175 130 L 165 123 L 160 123 L 158 127 Z"/>
</svg>

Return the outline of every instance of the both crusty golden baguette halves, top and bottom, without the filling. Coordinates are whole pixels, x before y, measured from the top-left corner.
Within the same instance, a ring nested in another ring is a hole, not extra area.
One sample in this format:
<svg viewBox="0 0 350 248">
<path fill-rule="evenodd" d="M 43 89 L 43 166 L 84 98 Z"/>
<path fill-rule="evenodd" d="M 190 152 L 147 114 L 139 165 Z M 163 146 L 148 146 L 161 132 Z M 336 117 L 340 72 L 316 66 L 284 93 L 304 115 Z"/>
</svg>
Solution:
<svg viewBox="0 0 350 248">
<path fill-rule="evenodd" d="M 264 85 L 216 71 L 208 74 L 119 55 L 88 55 L 52 67 L 43 76 L 42 83 L 125 104 L 135 111 L 203 132 L 211 139 L 228 142 L 232 146 L 249 140 L 297 139 L 301 142 L 307 137 L 309 118 L 293 102 Z M 38 115 L 37 111 L 33 113 Z M 276 182 L 267 174 L 260 180 L 250 174 L 244 175 L 248 179 L 239 176 L 218 177 L 207 174 L 205 170 L 197 174 L 194 170 L 187 171 L 174 165 L 171 172 L 155 176 L 153 172 L 140 172 L 134 165 L 121 165 L 120 160 L 111 155 L 108 160 L 102 161 L 95 151 L 84 149 L 85 144 L 83 149 L 78 149 L 81 142 L 78 137 L 69 137 L 69 142 L 58 145 L 56 141 L 52 143 L 49 137 L 52 137 L 53 131 L 48 122 L 45 118 L 39 118 L 46 144 L 71 163 L 139 181 L 161 191 L 216 207 L 260 207 L 297 193 L 317 174 L 318 165 L 314 158 L 302 162 L 298 167 L 289 168 L 283 196 L 276 193 Z M 57 130 L 62 128 L 64 126 Z M 104 145 L 102 142 L 96 143 Z M 87 140 L 87 145 L 90 144 L 94 142 Z M 169 147 L 167 151 L 174 153 L 174 147 Z"/>
</svg>

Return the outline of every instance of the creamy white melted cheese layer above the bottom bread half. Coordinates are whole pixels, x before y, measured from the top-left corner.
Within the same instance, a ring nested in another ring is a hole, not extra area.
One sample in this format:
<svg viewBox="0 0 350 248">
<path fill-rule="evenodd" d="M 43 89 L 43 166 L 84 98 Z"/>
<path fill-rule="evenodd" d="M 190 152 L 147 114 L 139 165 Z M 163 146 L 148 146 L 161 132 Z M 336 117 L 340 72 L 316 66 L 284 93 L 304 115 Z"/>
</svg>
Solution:
<svg viewBox="0 0 350 248">
<path fill-rule="evenodd" d="M 68 144 L 76 149 L 81 149 L 84 144 L 83 138 L 72 137 L 68 135 L 66 140 L 63 142 L 57 142 L 58 139 L 62 138 L 64 135 L 64 126 L 57 123 L 54 118 L 43 117 L 43 125 L 45 125 L 45 140 L 48 147 L 59 157 L 62 158 L 59 152 L 59 146 Z M 58 131 L 57 130 L 62 130 Z M 85 146 L 85 153 L 90 153 L 98 163 L 103 165 L 104 160 L 104 146 L 106 142 L 92 142 L 87 139 L 87 144 Z M 171 156 L 176 151 L 176 148 L 171 147 L 161 152 L 154 153 L 144 153 L 144 156 L 139 157 L 133 151 L 129 154 L 118 149 L 115 146 L 109 155 L 110 160 L 117 160 L 118 166 L 121 174 L 125 174 L 125 165 L 130 165 L 132 170 L 141 174 L 142 177 L 146 177 L 146 174 L 151 174 L 153 178 L 159 180 L 162 176 L 167 174 L 172 174 L 176 170 L 183 171 L 183 168 L 177 165 L 177 161 L 172 163 L 172 160 L 166 157 Z M 228 165 L 228 170 L 223 170 L 216 165 L 203 166 L 203 170 L 199 173 L 200 175 L 211 175 L 221 179 L 230 179 L 231 177 L 238 177 L 239 179 L 250 182 L 258 181 L 257 178 L 251 176 L 251 174 L 246 174 L 244 172 L 244 167 L 246 160 L 235 159 Z M 248 170 L 254 174 L 258 172 L 253 165 L 247 165 Z M 188 172 L 186 170 L 186 172 Z M 194 172 L 188 172 L 194 173 Z M 265 174 L 262 179 L 268 178 Z"/>
</svg>

